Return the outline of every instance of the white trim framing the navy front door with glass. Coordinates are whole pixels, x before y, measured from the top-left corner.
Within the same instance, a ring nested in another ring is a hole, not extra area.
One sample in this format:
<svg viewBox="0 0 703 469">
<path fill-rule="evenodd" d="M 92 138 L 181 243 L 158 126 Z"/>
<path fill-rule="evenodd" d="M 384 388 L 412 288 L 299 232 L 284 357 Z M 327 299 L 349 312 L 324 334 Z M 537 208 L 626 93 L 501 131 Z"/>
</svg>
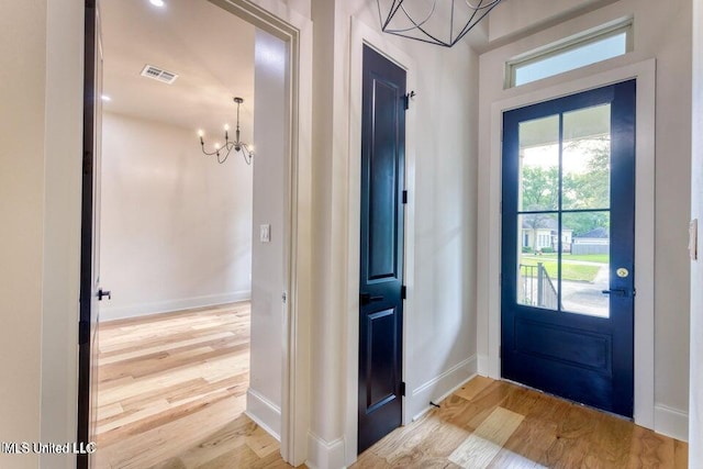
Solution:
<svg viewBox="0 0 703 469">
<path fill-rule="evenodd" d="M 550 86 L 510 99 L 498 101 L 491 107 L 491 134 L 489 166 L 489 193 L 483 199 L 488 203 L 486 216 L 479 220 L 479 230 L 488 239 L 488 266 L 479 271 L 488 276 L 488 290 L 479 291 L 488 304 L 487 356 L 479 356 L 479 373 L 491 378 L 501 378 L 499 357 L 501 344 L 501 147 L 503 112 L 523 108 L 542 101 L 574 94 L 607 85 L 637 80 L 636 102 L 636 202 L 635 202 L 635 265 L 637 276 L 635 289 L 635 409 L 634 420 L 638 425 L 667 433 L 657 428 L 655 421 L 655 102 L 656 102 L 656 60 L 648 59 L 623 66 L 590 77 Z"/>
</svg>

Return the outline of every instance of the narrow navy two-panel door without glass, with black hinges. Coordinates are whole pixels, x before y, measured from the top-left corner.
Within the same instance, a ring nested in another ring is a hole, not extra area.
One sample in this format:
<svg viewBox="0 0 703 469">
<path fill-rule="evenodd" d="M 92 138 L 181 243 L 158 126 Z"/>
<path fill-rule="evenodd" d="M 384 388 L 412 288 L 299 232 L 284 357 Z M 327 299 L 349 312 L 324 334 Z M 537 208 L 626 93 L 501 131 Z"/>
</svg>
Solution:
<svg viewBox="0 0 703 469">
<path fill-rule="evenodd" d="M 359 278 L 361 453 L 402 420 L 405 70 L 364 47 Z"/>
</svg>

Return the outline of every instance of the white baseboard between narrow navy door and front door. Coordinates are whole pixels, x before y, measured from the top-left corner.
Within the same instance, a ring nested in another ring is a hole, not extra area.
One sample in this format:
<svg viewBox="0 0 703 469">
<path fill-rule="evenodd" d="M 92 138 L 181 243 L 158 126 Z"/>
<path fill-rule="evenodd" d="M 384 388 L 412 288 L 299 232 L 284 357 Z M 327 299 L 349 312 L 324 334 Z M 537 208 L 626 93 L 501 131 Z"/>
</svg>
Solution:
<svg viewBox="0 0 703 469">
<path fill-rule="evenodd" d="M 438 403 L 464 383 L 473 378 L 477 372 L 476 355 L 455 365 L 436 378 L 415 388 L 406 402 L 409 415 L 415 421 L 432 409 L 429 401 Z"/>
</svg>

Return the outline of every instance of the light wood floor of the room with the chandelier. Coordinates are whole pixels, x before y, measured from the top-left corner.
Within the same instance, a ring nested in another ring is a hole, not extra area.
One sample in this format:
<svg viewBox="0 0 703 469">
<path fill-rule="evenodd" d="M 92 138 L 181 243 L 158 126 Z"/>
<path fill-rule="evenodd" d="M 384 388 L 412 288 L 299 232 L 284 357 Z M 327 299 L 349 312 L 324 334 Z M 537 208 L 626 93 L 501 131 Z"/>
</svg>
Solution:
<svg viewBox="0 0 703 469">
<path fill-rule="evenodd" d="M 249 310 L 236 303 L 100 325 L 94 467 L 289 467 L 278 442 L 243 414 Z"/>
</svg>

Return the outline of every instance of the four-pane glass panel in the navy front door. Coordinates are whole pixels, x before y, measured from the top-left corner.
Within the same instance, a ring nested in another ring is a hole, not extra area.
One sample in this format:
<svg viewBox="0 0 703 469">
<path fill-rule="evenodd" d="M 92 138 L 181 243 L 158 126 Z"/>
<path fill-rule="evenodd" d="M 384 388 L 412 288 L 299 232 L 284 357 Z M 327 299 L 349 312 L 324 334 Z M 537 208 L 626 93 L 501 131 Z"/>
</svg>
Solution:
<svg viewBox="0 0 703 469">
<path fill-rule="evenodd" d="M 611 104 L 518 124 L 517 303 L 610 316 Z"/>
</svg>

